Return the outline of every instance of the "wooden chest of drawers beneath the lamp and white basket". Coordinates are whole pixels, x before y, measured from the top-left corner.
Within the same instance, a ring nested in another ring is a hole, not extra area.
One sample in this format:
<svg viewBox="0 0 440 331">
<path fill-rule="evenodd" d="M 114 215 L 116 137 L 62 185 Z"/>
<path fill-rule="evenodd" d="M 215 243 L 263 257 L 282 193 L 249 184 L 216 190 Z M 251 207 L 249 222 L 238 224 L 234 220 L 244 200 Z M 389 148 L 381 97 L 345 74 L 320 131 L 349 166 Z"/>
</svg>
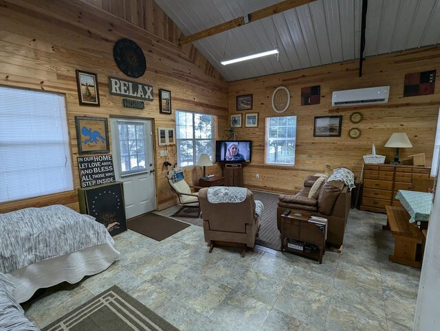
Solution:
<svg viewBox="0 0 440 331">
<path fill-rule="evenodd" d="M 385 212 L 385 206 L 401 206 L 398 190 L 412 190 L 412 179 L 430 177 L 430 168 L 412 165 L 365 164 L 361 210 Z"/>
</svg>

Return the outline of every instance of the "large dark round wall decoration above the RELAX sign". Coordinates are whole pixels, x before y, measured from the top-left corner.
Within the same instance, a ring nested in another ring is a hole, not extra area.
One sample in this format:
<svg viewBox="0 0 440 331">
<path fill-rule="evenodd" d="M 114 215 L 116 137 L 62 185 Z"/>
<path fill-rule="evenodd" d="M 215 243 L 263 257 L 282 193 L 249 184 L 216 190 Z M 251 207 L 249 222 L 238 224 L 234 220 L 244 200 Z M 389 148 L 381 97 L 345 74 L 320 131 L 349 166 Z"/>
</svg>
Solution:
<svg viewBox="0 0 440 331">
<path fill-rule="evenodd" d="M 113 46 L 113 58 L 120 71 L 126 76 L 139 78 L 146 70 L 144 52 L 130 39 L 122 38 L 116 41 Z"/>
</svg>

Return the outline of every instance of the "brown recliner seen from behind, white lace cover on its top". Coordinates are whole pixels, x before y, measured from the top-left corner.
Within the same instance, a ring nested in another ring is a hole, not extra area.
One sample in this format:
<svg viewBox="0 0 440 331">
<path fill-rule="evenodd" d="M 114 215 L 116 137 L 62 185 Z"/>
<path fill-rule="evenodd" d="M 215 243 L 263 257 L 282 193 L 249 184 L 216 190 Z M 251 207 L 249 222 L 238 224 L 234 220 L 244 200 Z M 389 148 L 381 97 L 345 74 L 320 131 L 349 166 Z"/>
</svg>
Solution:
<svg viewBox="0 0 440 331">
<path fill-rule="evenodd" d="M 212 195 L 208 200 L 208 190 L 217 190 L 224 197 L 228 196 L 229 192 L 240 192 L 235 189 L 243 190 L 243 201 L 210 202 Z M 258 236 L 263 203 L 254 201 L 252 191 L 243 187 L 202 188 L 199 191 L 199 201 L 205 241 L 210 243 L 209 252 L 211 253 L 214 244 L 243 247 L 241 256 L 244 258 L 246 248 L 254 247 L 255 238 Z"/>
</svg>

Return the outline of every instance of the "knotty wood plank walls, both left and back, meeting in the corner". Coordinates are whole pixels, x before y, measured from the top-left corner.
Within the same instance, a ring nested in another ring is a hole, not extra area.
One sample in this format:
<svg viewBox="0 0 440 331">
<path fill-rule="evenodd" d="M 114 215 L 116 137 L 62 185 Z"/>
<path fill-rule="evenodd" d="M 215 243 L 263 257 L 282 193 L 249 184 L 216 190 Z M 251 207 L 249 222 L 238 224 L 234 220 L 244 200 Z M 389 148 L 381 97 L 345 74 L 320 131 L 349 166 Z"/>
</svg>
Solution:
<svg viewBox="0 0 440 331">
<path fill-rule="evenodd" d="M 181 32 L 153 0 L 17 0 L 0 2 L 0 84 L 28 89 L 65 93 L 69 135 L 74 161 L 75 187 L 79 187 L 74 117 L 88 115 L 127 116 L 153 119 L 155 128 L 175 127 L 176 109 L 217 116 L 216 138 L 225 139 L 224 128 L 235 111 L 236 95 L 253 95 L 253 109 L 259 113 L 258 128 L 237 128 L 238 139 L 252 139 L 253 160 L 244 169 L 245 185 L 273 192 L 295 192 L 303 178 L 324 172 L 325 165 L 345 166 L 360 178 L 362 155 L 376 146 L 377 154 L 393 159 L 394 150 L 384 148 L 393 132 L 408 134 L 413 148 L 401 149 L 401 158 L 426 153 L 432 159 L 437 115 L 440 106 L 439 82 L 433 95 L 403 97 L 406 73 L 439 69 L 440 47 L 413 49 L 367 58 L 362 78 L 358 61 L 349 61 L 311 69 L 292 71 L 239 82 L 223 80 L 218 71 L 192 45 L 178 45 Z M 122 98 L 109 95 L 108 76 L 126 77 L 113 61 L 112 49 L 120 38 L 131 38 L 143 49 L 147 71 L 137 81 L 154 87 L 153 102 L 146 109 L 124 109 Z M 75 69 L 98 74 L 100 107 L 79 106 Z M 440 71 L 437 70 L 437 78 Z M 437 79 L 438 80 L 438 79 Z M 319 84 L 320 104 L 300 106 L 300 89 Z M 361 87 L 391 86 L 388 104 L 334 108 L 331 92 Z M 276 87 L 286 86 L 292 94 L 289 109 L 283 115 L 297 116 L 296 163 L 294 166 L 265 165 L 265 119 L 272 111 L 271 97 Z M 173 115 L 159 114 L 157 91 L 172 93 Z M 229 112 L 228 112 L 229 109 Z M 364 120 L 351 124 L 349 115 L 360 111 Z M 341 137 L 313 137 L 314 117 L 342 115 Z M 359 139 L 350 139 L 350 128 L 362 130 Z M 156 134 L 155 134 L 156 137 Z M 164 179 L 164 157 L 155 143 L 157 209 L 176 203 Z M 210 172 L 220 174 L 218 166 Z M 188 168 L 186 179 L 197 183 L 201 167 Z M 256 179 L 259 174 L 259 179 Z M 28 199 L 0 205 L 5 212 L 26 205 L 61 201 L 78 209 L 76 192 Z"/>
</svg>

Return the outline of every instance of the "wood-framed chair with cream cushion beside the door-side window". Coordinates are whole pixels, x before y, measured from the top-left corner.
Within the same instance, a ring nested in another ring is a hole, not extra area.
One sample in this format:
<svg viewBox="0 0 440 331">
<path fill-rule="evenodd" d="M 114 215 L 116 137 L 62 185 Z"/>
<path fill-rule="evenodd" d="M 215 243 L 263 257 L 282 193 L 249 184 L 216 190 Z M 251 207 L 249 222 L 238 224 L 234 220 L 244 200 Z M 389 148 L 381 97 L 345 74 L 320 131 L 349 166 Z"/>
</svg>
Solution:
<svg viewBox="0 0 440 331">
<path fill-rule="evenodd" d="M 179 198 L 179 203 L 182 205 L 181 208 L 171 216 L 199 218 L 199 193 L 192 192 L 191 188 L 193 188 L 193 190 L 195 191 L 201 187 L 188 185 L 188 183 L 186 183 L 184 179 L 184 172 L 182 172 L 181 170 L 169 170 L 166 174 L 166 179 L 168 180 L 171 191 L 177 194 Z M 197 208 L 197 215 L 180 214 L 180 212 L 186 208 Z"/>
</svg>

